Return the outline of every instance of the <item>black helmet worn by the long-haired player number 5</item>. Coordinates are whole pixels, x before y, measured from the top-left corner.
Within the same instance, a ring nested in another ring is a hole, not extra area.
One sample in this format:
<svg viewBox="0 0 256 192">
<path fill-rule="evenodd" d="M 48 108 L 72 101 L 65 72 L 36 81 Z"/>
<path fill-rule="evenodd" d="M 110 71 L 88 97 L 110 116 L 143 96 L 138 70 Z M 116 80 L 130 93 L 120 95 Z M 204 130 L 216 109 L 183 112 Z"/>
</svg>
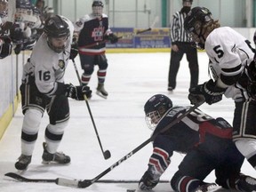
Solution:
<svg viewBox="0 0 256 192">
<path fill-rule="evenodd" d="M 196 31 L 196 22 L 199 21 L 201 26 L 212 20 L 212 12 L 205 7 L 194 7 L 188 12 L 184 20 L 184 28 L 188 33 Z"/>
</svg>

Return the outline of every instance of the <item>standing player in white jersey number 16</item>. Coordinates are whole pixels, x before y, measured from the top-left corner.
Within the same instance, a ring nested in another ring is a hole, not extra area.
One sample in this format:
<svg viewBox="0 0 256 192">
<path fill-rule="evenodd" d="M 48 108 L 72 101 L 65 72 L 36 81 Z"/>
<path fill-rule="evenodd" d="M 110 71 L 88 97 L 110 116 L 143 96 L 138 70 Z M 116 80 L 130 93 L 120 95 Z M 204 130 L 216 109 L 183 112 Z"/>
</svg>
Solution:
<svg viewBox="0 0 256 192">
<path fill-rule="evenodd" d="M 45 21 L 44 33 L 23 69 L 20 85 L 22 112 L 21 155 L 16 169 L 25 170 L 31 163 L 41 119 L 46 109 L 49 124 L 44 132 L 44 163 L 68 164 L 70 157 L 57 152 L 64 129 L 68 125 L 68 97 L 84 100 L 91 96 L 87 86 L 64 83 L 73 36 L 73 24 L 67 18 L 53 15 Z"/>
</svg>

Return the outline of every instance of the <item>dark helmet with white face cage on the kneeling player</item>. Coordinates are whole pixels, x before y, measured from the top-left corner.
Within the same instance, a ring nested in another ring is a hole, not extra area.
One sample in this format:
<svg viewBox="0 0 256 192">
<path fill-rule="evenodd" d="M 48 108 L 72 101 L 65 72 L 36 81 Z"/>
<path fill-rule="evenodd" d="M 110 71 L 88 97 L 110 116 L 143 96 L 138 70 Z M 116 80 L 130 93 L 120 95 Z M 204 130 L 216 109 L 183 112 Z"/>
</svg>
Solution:
<svg viewBox="0 0 256 192">
<path fill-rule="evenodd" d="M 144 105 L 145 120 L 148 127 L 152 130 L 156 128 L 159 120 L 166 113 L 166 111 L 172 108 L 172 100 L 163 94 L 156 94 L 152 96 Z"/>
</svg>

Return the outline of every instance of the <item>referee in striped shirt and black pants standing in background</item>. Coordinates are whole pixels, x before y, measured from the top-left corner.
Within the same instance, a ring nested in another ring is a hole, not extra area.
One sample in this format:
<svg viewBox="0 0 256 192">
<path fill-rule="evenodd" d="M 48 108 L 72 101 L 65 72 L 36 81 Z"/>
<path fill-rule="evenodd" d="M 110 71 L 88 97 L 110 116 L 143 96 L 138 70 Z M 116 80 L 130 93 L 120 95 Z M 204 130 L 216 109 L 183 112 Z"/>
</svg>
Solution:
<svg viewBox="0 0 256 192">
<path fill-rule="evenodd" d="M 171 60 L 168 76 L 168 91 L 172 92 L 176 87 L 176 76 L 180 68 L 180 60 L 184 53 L 187 55 L 188 68 L 190 71 L 190 88 L 198 84 L 198 60 L 196 46 L 192 46 L 192 40 L 184 30 L 184 19 L 191 9 L 193 0 L 182 0 L 183 7 L 180 12 L 173 14 L 170 38 L 172 43 Z"/>
</svg>

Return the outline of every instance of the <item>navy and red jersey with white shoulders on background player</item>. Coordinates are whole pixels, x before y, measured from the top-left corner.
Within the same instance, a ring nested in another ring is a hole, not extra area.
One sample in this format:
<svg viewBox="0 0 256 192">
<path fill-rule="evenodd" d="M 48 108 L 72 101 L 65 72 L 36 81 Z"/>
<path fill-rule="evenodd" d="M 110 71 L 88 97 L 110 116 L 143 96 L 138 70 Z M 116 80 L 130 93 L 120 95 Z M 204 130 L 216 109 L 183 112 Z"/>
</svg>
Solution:
<svg viewBox="0 0 256 192">
<path fill-rule="evenodd" d="M 100 19 L 92 13 L 84 15 L 76 21 L 74 26 L 75 31 L 79 32 L 79 53 L 97 55 L 106 51 L 106 44 L 103 42 L 104 36 L 112 33 L 108 28 L 108 16 L 106 14 L 102 14 Z"/>
</svg>

